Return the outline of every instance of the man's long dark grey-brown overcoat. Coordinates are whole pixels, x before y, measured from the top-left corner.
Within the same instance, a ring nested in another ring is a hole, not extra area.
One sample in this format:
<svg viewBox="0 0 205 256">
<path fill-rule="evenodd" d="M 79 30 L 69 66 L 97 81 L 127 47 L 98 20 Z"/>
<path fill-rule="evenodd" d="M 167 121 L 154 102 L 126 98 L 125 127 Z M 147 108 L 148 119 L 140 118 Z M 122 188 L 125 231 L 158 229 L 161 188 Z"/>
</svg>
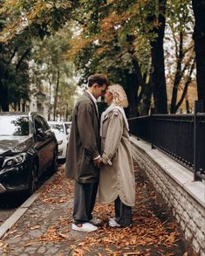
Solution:
<svg viewBox="0 0 205 256">
<path fill-rule="evenodd" d="M 98 183 L 99 169 L 93 159 L 99 156 L 99 149 L 99 116 L 91 95 L 85 92 L 73 110 L 65 175 L 79 183 Z"/>
</svg>

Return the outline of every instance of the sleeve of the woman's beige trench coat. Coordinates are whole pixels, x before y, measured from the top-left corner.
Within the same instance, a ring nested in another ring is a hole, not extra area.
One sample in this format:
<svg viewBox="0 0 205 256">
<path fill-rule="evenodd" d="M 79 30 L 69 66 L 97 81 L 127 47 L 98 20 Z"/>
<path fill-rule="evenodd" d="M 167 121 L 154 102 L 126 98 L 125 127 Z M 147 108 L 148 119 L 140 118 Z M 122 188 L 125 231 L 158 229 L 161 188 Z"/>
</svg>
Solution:
<svg viewBox="0 0 205 256">
<path fill-rule="evenodd" d="M 106 132 L 105 147 L 102 154 L 103 163 L 112 165 L 112 158 L 117 152 L 122 134 L 123 120 L 120 112 L 115 110 L 113 111 Z"/>
</svg>

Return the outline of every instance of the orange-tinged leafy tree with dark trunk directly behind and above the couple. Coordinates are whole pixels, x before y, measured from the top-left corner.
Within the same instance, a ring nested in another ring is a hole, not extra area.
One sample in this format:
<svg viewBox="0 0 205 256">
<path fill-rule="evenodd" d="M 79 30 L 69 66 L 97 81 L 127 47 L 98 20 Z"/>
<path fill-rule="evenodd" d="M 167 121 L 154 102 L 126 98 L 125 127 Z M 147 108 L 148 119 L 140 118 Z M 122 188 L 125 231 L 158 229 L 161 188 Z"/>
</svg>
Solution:
<svg viewBox="0 0 205 256">
<path fill-rule="evenodd" d="M 138 115 L 145 107 L 148 113 L 154 92 L 156 111 L 167 113 L 161 44 L 166 2 L 159 3 L 85 1 L 79 6 L 80 16 L 75 16 L 81 31 L 72 44 L 77 69 L 83 77 L 100 71 L 107 73 L 113 82 L 120 82 L 126 89 L 131 116 Z M 154 52 L 161 52 L 160 57 Z"/>
</svg>

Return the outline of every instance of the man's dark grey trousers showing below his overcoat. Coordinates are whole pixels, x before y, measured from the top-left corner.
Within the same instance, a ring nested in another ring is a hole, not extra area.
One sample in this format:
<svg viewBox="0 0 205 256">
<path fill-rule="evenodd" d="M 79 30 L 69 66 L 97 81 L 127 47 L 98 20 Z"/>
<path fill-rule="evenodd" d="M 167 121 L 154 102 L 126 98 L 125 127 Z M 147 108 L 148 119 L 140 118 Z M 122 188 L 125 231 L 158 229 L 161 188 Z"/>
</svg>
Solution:
<svg viewBox="0 0 205 256">
<path fill-rule="evenodd" d="M 99 183 L 75 183 L 73 221 L 76 225 L 89 222 L 92 219 L 92 210 Z"/>
</svg>

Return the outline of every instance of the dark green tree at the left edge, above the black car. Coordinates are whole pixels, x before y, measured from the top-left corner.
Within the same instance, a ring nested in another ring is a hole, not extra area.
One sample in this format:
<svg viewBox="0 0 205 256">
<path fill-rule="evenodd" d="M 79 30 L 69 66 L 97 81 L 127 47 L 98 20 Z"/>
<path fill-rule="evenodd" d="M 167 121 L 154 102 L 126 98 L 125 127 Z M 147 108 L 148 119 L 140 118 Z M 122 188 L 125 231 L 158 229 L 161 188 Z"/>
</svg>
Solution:
<svg viewBox="0 0 205 256">
<path fill-rule="evenodd" d="M 3 30 L 0 21 L 0 31 Z M 14 37 L 10 42 L 0 42 L 0 109 L 9 111 L 10 103 L 14 108 L 21 99 L 28 100 L 29 65 L 31 41 L 24 34 Z"/>
</svg>

